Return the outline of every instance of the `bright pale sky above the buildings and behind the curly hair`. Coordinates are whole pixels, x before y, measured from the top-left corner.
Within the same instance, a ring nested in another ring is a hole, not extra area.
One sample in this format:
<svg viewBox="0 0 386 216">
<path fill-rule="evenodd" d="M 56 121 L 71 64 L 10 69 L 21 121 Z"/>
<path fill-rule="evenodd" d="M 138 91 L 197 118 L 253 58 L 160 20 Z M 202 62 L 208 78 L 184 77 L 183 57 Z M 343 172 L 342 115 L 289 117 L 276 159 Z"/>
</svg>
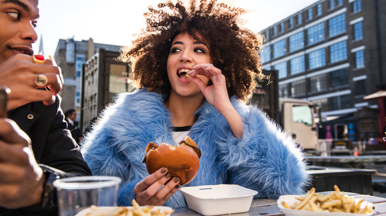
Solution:
<svg viewBox="0 0 386 216">
<path fill-rule="evenodd" d="M 129 45 L 145 27 L 144 12 L 162 0 L 39 0 L 40 19 L 33 45 L 39 51 L 41 38 L 46 56 L 54 55 L 59 39 L 93 38 L 95 43 Z M 175 2 L 175 0 L 173 0 Z M 253 32 L 281 21 L 318 0 L 219 0 L 251 10 L 242 16 Z M 268 38 L 269 40 L 269 38 Z"/>
</svg>

